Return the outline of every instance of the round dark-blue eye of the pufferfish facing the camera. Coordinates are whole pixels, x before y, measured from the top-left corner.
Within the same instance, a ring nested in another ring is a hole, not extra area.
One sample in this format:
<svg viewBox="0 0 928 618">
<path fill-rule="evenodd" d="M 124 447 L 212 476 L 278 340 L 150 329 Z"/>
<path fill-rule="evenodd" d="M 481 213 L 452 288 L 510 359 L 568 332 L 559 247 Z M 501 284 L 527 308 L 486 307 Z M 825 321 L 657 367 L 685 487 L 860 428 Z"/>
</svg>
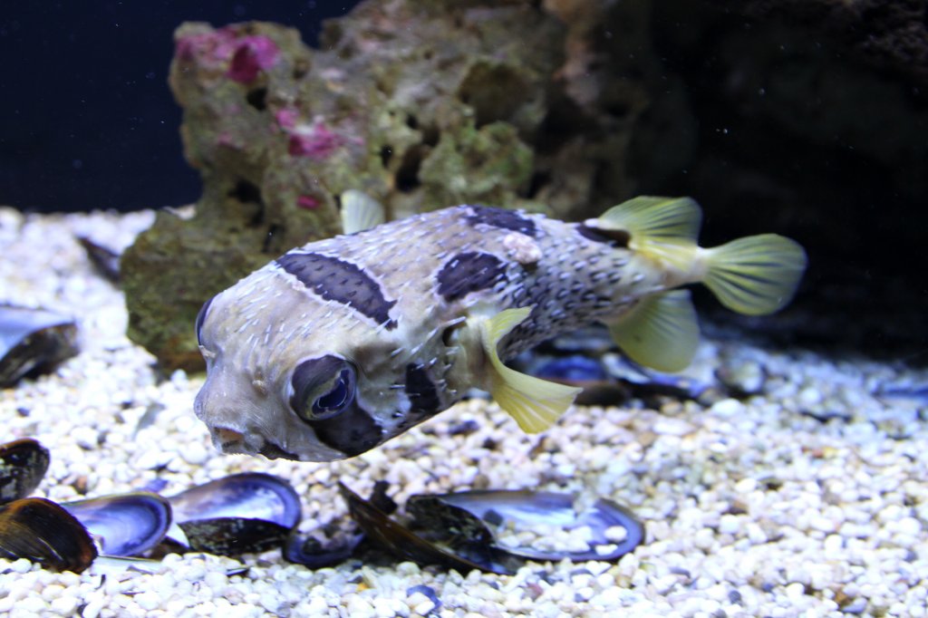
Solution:
<svg viewBox="0 0 928 618">
<path fill-rule="evenodd" d="M 290 407 L 303 420 L 332 418 L 354 402 L 356 375 L 354 366 L 338 356 L 304 360 L 290 379 Z"/>
</svg>

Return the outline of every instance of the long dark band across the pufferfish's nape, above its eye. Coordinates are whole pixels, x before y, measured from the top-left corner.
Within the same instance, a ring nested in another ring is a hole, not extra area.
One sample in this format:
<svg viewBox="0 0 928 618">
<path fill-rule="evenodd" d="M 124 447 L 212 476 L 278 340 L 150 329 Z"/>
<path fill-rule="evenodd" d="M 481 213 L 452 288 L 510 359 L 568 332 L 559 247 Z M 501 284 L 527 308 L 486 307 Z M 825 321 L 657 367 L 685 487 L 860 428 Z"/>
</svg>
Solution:
<svg viewBox="0 0 928 618">
<path fill-rule="evenodd" d="M 396 301 L 386 300 L 380 284 L 358 266 L 320 253 L 286 253 L 277 264 L 323 299 L 346 304 L 387 329 L 396 328 L 396 320 L 390 319 Z"/>
</svg>

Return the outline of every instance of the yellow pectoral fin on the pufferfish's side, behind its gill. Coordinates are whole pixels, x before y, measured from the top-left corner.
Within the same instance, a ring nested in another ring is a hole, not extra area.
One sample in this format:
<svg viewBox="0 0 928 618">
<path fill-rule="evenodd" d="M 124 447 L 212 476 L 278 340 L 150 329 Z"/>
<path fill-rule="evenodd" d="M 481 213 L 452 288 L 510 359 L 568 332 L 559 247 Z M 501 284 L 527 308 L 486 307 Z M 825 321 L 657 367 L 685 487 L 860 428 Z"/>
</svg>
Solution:
<svg viewBox="0 0 928 618">
<path fill-rule="evenodd" d="M 506 367 L 496 349 L 499 341 L 532 313 L 531 307 L 507 309 L 484 320 L 483 351 L 490 359 L 490 394 L 499 407 L 515 418 L 522 431 L 545 431 L 574 403 L 583 389 L 541 380 Z"/>
</svg>

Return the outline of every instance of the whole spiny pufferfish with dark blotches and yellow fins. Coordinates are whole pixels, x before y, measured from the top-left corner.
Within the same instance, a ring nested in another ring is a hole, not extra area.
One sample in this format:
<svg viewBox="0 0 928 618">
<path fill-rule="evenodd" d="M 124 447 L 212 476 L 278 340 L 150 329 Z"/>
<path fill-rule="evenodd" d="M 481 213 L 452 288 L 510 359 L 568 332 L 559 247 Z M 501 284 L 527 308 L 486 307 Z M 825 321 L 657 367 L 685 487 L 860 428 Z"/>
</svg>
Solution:
<svg viewBox="0 0 928 618">
<path fill-rule="evenodd" d="M 788 303 L 806 267 L 775 234 L 696 242 L 695 201 L 639 197 L 597 219 L 460 205 L 379 224 L 376 201 L 342 197 L 345 235 L 288 251 L 203 305 L 197 416 L 226 453 L 354 457 L 489 391 L 524 431 L 547 429 L 580 389 L 505 361 L 604 323 L 638 363 L 689 365 L 700 282 L 728 308 Z"/>
</svg>

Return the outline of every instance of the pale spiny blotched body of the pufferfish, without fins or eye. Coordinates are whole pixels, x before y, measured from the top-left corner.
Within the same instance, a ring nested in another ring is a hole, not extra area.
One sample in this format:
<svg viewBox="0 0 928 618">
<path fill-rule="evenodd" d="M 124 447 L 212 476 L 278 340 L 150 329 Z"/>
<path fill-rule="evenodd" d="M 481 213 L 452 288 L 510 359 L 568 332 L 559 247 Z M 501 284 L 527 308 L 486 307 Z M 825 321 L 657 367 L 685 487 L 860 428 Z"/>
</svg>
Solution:
<svg viewBox="0 0 928 618">
<path fill-rule="evenodd" d="M 506 359 L 669 287 L 637 259 L 582 225 L 470 205 L 310 243 L 205 308 L 197 414 L 226 452 L 352 457 L 486 388 L 480 320 L 532 307 L 500 341 Z M 290 407 L 290 379 L 326 354 L 356 367 L 356 396 L 342 415 L 307 422 Z"/>
</svg>

